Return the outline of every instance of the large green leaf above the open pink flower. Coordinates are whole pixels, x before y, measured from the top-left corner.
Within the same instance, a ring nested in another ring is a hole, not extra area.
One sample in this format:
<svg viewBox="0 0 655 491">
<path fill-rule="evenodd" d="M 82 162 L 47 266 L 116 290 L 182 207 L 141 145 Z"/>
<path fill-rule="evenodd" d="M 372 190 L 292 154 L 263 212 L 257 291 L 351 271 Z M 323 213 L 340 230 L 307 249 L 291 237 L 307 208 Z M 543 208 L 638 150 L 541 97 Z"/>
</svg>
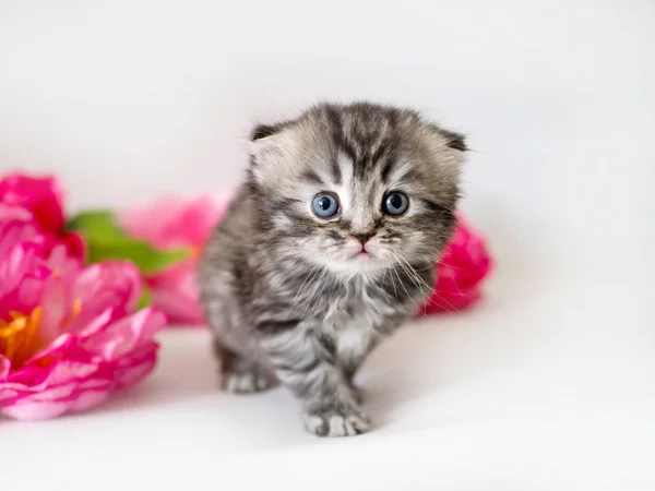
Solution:
<svg viewBox="0 0 655 491">
<path fill-rule="evenodd" d="M 88 246 L 88 262 L 127 260 L 146 275 L 159 273 L 190 254 L 188 249 L 159 250 L 145 240 L 129 237 L 116 224 L 115 215 L 109 211 L 81 213 L 67 224 L 67 230 L 84 236 Z"/>
</svg>

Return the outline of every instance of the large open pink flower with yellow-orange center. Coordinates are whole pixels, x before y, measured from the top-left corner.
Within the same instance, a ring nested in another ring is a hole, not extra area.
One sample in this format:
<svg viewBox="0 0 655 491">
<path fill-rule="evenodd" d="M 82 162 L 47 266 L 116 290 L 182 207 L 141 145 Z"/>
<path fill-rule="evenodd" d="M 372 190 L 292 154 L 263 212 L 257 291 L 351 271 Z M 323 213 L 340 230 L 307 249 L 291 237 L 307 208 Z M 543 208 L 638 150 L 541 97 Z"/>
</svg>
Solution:
<svg viewBox="0 0 655 491">
<path fill-rule="evenodd" d="M 84 267 L 25 211 L 2 212 L 0 414 L 31 420 L 88 409 L 147 375 L 165 318 L 136 311 L 135 266 Z"/>
</svg>

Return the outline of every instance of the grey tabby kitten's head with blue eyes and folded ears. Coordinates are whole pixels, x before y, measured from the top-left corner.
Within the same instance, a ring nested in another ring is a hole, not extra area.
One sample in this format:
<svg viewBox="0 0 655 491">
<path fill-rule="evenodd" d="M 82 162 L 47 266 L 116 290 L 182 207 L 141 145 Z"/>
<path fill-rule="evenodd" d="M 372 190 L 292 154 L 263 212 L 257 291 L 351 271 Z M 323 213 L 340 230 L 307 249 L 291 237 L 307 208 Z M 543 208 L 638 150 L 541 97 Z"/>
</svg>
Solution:
<svg viewBox="0 0 655 491">
<path fill-rule="evenodd" d="M 251 140 L 271 254 L 370 276 L 433 262 L 450 238 L 464 140 L 415 111 L 325 104 Z"/>
</svg>

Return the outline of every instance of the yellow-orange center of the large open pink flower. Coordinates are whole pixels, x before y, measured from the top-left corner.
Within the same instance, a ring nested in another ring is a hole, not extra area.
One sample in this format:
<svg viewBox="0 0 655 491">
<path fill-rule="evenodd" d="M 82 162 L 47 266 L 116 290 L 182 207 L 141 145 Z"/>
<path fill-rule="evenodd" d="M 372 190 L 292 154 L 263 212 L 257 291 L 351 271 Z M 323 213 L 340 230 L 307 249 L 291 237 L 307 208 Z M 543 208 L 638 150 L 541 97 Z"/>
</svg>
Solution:
<svg viewBox="0 0 655 491">
<path fill-rule="evenodd" d="M 82 302 L 75 300 L 62 327 L 75 319 L 81 309 Z M 44 348 L 44 339 L 38 332 L 41 313 L 43 308 L 39 306 L 28 315 L 10 312 L 9 322 L 0 319 L 0 355 L 11 361 L 12 370 L 21 368 L 34 354 Z"/>
</svg>

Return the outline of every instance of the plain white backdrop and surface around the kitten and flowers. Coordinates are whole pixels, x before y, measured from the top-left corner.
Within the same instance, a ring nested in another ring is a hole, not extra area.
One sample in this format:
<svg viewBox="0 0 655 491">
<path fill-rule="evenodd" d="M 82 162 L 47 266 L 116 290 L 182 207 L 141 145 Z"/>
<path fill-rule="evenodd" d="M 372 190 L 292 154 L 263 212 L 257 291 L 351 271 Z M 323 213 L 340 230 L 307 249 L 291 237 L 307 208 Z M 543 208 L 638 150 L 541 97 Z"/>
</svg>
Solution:
<svg viewBox="0 0 655 491">
<path fill-rule="evenodd" d="M 654 25 L 645 0 L 0 0 L 1 170 L 118 206 L 234 185 L 253 121 L 407 104 L 471 135 L 498 259 L 484 303 L 367 363 L 369 435 L 221 394 L 206 333 L 171 332 L 98 410 L 0 421 L 0 489 L 654 489 Z"/>
</svg>

